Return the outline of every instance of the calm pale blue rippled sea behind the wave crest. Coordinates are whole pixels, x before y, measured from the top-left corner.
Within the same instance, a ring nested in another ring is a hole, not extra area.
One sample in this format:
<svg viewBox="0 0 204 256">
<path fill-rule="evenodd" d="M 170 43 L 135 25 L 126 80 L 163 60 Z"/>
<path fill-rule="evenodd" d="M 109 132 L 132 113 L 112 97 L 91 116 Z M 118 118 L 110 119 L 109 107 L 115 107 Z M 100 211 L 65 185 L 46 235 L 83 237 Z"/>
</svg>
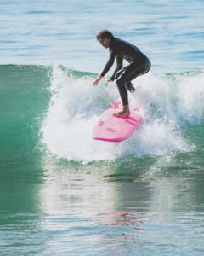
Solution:
<svg viewBox="0 0 204 256">
<path fill-rule="evenodd" d="M 1 0 L 1 64 L 63 64 L 100 73 L 108 57 L 103 28 L 136 44 L 155 73 L 203 68 L 202 0 Z"/>
</svg>

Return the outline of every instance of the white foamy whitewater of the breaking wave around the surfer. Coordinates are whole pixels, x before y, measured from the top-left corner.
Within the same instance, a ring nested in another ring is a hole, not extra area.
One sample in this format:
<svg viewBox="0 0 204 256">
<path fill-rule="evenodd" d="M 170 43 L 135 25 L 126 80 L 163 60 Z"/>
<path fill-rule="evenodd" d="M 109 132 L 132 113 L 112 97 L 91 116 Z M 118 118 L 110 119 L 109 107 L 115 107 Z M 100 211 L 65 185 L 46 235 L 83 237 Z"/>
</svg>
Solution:
<svg viewBox="0 0 204 256">
<path fill-rule="evenodd" d="M 82 162 L 191 152 L 203 125 L 204 72 L 148 73 L 133 81 L 130 105 L 139 107 L 144 123 L 122 143 L 94 141 L 99 115 L 119 100 L 116 84 L 92 86 L 95 75 L 52 67 L 50 102 L 42 124 L 42 143 L 59 158 Z"/>
</svg>

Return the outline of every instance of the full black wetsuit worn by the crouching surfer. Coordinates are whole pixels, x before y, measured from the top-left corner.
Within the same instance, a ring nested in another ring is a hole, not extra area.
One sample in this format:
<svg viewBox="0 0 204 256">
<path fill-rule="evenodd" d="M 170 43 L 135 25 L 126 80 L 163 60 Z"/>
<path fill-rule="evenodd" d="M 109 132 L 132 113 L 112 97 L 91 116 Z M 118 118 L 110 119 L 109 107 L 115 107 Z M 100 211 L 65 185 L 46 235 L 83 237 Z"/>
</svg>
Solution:
<svg viewBox="0 0 204 256">
<path fill-rule="evenodd" d="M 133 44 L 129 44 L 119 38 L 112 38 L 109 47 L 110 56 L 107 61 L 102 76 L 105 76 L 112 67 L 116 58 L 116 70 L 111 76 L 111 80 L 116 79 L 116 84 L 122 98 L 122 105 L 128 104 L 127 89 L 133 91 L 131 80 L 150 70 L 150 60 Z M 123 59 L 130 65 L 122 68 Z"/>
</svg>

